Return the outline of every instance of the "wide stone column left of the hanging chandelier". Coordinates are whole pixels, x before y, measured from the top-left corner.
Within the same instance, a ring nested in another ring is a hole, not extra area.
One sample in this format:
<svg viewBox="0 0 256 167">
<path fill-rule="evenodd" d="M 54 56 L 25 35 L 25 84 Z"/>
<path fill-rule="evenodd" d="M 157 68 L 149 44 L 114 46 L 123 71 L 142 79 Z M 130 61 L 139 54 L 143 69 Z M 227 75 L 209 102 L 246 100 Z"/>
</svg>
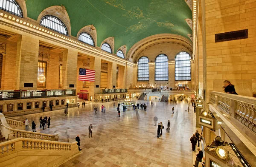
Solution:
<svg viewBox="0 0 256 167">
<path fill-rule="evenodd" d="M 16 89 L 37 89 L 38 77 L 38 51 L 37 38 L 20 35 L 17 39 L 16 57 Z M 33 83 L 33 87 L 24 88 L 24 83 Z"/>
</svg>

